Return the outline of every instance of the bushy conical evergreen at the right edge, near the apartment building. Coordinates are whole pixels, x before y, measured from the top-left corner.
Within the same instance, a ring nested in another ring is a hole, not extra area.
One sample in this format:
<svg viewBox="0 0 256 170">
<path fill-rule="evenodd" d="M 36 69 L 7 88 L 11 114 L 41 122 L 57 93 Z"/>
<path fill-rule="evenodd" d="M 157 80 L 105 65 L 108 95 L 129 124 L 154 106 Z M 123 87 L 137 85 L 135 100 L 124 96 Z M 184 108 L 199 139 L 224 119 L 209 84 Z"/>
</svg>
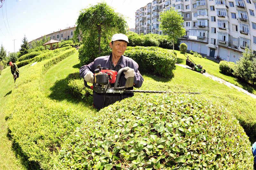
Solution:
<svg viewBox="0 0 256 170">
<path fill-rule="evenodd" d="M 234 75 L 241 79 L 244 82 L 253 81 L 254 78 L 254 68 L 253 68 L 253 52 L 249 48 L 245 48 L 245 52 L 243 52 L 243 57 L 236 62 L 236 66 L 234 68 Z"/>
</svg>

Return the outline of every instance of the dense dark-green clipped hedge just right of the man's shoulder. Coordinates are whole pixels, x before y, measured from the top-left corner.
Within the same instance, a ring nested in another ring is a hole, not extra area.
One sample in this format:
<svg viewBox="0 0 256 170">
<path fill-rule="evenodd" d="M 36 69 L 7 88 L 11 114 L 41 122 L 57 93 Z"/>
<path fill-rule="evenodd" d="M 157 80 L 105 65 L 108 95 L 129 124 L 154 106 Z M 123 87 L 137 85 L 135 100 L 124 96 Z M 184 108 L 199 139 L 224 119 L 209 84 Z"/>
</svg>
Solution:
<svg viewBox="0 0 256 170">
<path fill-rule="evenodd" d="M 124 56 L 135 60 L 140 71 L 155 73 L 163 77 L 172 75 L 177 61 L 175 53 L 159 47 L 127 47 Z"/>
</svg>

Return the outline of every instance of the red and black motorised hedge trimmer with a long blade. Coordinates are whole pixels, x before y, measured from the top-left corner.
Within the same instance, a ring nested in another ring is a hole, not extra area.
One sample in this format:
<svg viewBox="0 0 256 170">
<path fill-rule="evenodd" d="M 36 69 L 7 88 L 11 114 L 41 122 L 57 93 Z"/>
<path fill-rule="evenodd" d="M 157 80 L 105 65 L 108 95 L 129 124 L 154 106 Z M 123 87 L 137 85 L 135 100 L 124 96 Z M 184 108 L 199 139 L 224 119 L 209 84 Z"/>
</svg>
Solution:
<svg viewBox="0 0 256 170">
<path fill-rule="evenodd" d="M 172 92 L 172 91 L 151 91 L 151 90 L 128 90 L 133 87 L 133 77 L 128 77 L 125 82 L 125 86 L 118 87 L 120 76 L 123 72 L 128 69 L 121 68 L 118 73 L 114 70 L 109 70 L 107 67 L 97 66 L 95 74 L 93 74 L 93 85 L 87 85 L 84 80 L 85 87 L 97 92 L 97 93 L 127 93 L 127 92 L 138 92 L 138 93 L 189 93 L 189 94 L 200 94 L 199 92 Z"/>
</svg>

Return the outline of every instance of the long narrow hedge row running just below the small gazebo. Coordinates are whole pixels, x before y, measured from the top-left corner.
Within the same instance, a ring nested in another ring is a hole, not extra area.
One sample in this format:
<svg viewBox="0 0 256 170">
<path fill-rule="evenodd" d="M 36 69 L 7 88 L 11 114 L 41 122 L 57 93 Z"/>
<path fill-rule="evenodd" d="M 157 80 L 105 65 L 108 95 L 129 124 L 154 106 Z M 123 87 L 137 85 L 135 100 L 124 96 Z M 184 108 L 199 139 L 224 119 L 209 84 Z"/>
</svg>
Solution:
<svg viewBox="0 0 256 170">
<path fill-rule="evenodd" d="M 56 55 L 58 55 L 61 51 L 65 51 L 65 50 L 68 50 L 72 48 L 71 46 L 68 46 L 68 47 L 65 47 L 65 48 L 59 48 L 59 49 L 56 49 L 56 50 L 50 50 L 46 53 L 43 53 L 43 54 L 40 54 L 34 58 L 31 58 L 31 59 L 28 59 L 28 60 L 24 60 L 24 61 L 20 61 L 20 62 L 17 62 L 17 66 L 18 67 L 22 67 L 22 66 L 25 66 L 29 63 L 33 63 L 33 62 L 39 62 L 39 61 L 42 61 L 42 60 L 45 60 L 45 59 L 49 59 L 49 58 L 52 58 Z"/>
</svg>

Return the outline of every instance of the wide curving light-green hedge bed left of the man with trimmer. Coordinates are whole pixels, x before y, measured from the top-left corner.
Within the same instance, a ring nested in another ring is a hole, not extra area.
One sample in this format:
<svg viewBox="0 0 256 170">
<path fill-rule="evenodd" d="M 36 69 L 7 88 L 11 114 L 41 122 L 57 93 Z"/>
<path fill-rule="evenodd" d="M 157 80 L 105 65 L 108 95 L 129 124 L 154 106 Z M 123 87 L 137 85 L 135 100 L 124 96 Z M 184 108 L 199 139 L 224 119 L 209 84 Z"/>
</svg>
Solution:
<svg viewBox="0 0 256 170">
<path fill-rule="evenodd" d="M 44 73 L 60 60 L 70 56 L 75 48 L 27 68 L 27 74 L 19 79 L 13 89 L 10 105 L 6 108 L 6 120 L 17 153 L 28 158 L 28 169 L 52 169 L 52 155 L 59 149 L 64 136 L 82 121 L 76 110 L 45 97 L 42 91 Z"/>
</svg>

